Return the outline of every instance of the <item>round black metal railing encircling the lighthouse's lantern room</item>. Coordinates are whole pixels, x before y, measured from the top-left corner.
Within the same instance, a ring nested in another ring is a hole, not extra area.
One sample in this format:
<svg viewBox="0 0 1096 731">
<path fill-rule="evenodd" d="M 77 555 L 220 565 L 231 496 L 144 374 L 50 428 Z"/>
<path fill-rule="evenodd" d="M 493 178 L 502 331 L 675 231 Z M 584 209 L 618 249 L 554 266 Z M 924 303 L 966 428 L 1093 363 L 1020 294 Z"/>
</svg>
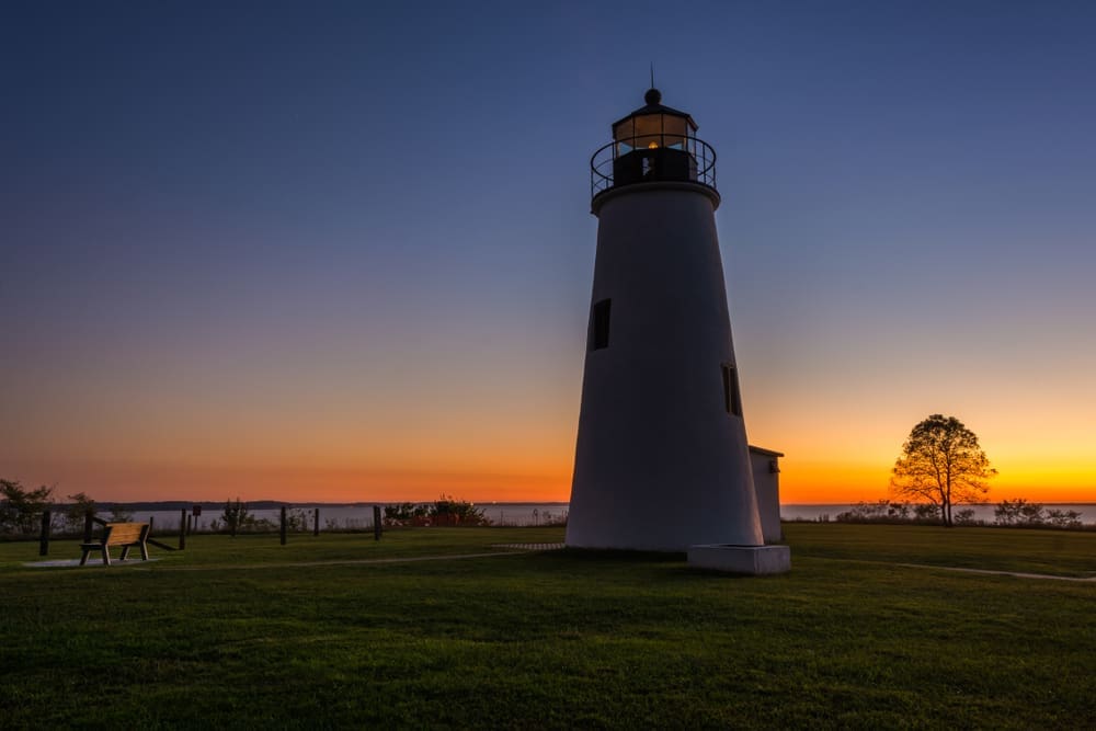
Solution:
<svg viewBox="0 0 1096 731">
<path fill-rule="evenodd" d="M 591 198 L 650 181 L 692 182 L 716 190 L 716 150 L 697 137 L 637 135 L 614 140 L 590 158 Z"/>
</svg>

